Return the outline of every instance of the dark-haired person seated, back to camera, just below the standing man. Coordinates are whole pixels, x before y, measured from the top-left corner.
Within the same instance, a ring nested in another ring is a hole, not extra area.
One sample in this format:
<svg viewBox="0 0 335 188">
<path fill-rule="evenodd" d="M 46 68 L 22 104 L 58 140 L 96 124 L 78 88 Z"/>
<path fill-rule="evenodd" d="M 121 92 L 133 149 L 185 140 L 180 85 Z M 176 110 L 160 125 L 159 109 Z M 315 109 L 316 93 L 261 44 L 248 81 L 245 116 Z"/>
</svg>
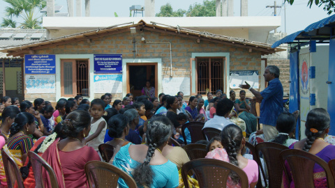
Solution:
<svg viewBox="0 0 335 188">
<path fill-rule="evenodd" d="M 276 138 L 269 140 L 269 142 L 279 143 L 286 147 L 291 146 L 292 143 L 297 142 L 296 139 L 290 139 L 295 134 L 296 124 L 295 116 L 284 111 L 277 119 L 276 129 L 278 130 L 278 135 Z"/>
</svg>

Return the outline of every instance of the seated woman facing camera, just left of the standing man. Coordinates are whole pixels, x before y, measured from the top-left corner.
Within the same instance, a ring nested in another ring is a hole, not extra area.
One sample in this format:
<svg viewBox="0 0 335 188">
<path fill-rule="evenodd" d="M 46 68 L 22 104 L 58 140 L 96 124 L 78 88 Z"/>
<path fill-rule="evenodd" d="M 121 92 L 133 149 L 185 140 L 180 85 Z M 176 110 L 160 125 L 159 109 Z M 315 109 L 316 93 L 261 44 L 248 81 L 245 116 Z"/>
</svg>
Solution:
<svg viewBox="0 0 335 188">
<path fill-rule="evenodd" d="M 246 91 L 239 92 L 240 99 L 235 100 L 235 108 L 239 118 L 246 123 L 246 134 L 251 134 L 257 130 L 257 118 L 250 113 L 250 102 L 246 99 Z"/>
</svg>

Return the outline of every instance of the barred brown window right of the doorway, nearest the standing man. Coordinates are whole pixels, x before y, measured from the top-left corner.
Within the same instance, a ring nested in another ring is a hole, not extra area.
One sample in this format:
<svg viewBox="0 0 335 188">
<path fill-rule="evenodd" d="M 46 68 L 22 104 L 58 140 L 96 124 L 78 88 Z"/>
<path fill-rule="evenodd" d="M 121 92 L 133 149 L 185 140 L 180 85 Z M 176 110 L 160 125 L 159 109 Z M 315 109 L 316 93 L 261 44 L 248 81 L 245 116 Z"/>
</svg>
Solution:
<svg viewBox="0 0 335 188">
<path fill-rule="evenodd" d="M 206 95 L 211 92 L 215 95 L 216 90 L 223 90 L 223 57 L 201 57 L 196 58 L 197 68 L 197 93 Z"/>
</svg>

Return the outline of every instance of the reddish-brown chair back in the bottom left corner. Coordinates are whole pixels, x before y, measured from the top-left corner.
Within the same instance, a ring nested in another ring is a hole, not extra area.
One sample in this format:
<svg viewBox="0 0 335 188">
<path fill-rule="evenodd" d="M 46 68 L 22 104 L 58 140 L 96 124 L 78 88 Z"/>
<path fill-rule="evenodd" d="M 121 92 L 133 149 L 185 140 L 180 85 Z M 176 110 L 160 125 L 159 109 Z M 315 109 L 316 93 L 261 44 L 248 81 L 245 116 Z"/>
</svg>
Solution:
<svg viewBox="0 0 335 188">
<path fill-rule="evenodd" d="M 1 157 L 3 162 L 3 168 L 5 169 L 6 173 L 8 188 L 14 187 L 16 183 L 17 187 L 24 188 L 22 175 L 14 159 L 10 157 L 6 150 L 3 149 L 1 149 Z"/>
</svg>

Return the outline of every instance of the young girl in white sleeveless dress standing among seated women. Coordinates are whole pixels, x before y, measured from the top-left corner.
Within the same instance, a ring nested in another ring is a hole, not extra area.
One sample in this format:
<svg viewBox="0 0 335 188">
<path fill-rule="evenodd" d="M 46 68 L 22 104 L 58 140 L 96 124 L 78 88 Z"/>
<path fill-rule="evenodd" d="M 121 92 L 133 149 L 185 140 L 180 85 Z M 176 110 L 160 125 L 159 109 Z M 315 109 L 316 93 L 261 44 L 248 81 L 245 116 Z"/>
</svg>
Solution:
<svg viewBox="0 0 335 188">
<path fill-rule="evenodd" d="M 91 113 L 91 131 L 89 132 L 89 136 L 84 139 L 84 144 L 91 146 L 98 152 L 98 146 L 103 143 L 103 139 L 105 139 L 106 133 L 106 121 L 103 118 L 103 114 L 105 113 L 105 102 L 100 99 L 92 100 L 91 109 L 89 112 Z M 100 155 L 100 154 L 99 154 Z"/>
</svg>

